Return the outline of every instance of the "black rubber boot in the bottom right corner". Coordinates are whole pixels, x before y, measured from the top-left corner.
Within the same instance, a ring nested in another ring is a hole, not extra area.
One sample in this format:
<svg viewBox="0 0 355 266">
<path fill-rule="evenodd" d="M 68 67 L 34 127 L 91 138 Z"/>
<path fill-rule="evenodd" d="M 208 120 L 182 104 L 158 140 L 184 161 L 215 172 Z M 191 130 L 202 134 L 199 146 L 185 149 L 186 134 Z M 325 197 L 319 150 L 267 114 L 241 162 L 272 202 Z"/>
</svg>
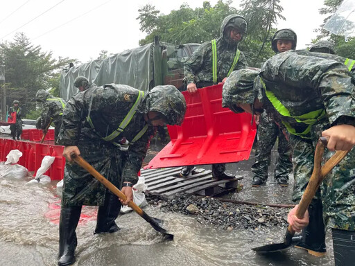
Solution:
<svg viewBox="0 0 355 266">
<path fill-rule="evenodd" d="M 352 266 L 355 262 L 355 231 L 331 229 L 336 266 Z"/>
</svg>

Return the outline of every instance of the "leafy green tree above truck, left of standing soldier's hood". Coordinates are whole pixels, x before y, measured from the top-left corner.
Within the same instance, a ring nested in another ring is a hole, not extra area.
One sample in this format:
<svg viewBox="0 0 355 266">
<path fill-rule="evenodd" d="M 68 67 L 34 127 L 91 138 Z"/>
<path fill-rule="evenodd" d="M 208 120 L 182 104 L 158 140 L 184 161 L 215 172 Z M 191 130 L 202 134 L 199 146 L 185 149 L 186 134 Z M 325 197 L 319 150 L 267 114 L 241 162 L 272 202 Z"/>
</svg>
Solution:
<svg viewBox="0 0 355 266">
<path fill-rule="evenodd" d="M 153 42 L 158 35 L 164 42 L 171 44 L 202 43 L 219 37 L 220 23 L 227 15 L 237 10 L 230 6 L 231 0 L 218 1 L 211 7 L 208 1 L 202 8 L 193 10 L 187 3 L 173 10 L 168 15 L 160 15 L 155 6 L 147 5 L 139 9 L 140 29 L 147 33 L 146 38 L 139 41 L 139 45 Z"/>
</svg>

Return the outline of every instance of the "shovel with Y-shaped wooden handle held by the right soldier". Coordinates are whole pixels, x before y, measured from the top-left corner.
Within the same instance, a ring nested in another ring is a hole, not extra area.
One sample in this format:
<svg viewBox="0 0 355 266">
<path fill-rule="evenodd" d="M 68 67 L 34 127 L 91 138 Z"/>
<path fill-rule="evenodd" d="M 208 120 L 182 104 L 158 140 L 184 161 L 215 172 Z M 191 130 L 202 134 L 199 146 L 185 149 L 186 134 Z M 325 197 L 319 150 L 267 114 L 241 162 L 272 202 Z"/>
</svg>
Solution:
<svg viewBox="0 0 355 266">
<path fill-rule="evenodd" d="M 347 155 L 349 150 L 341 150 L 337 151 L 326 163 L 324 166 L 320 166 L 322 161 L 322 156 L 324 153 L 324 147 L 327 145 L 327 139 L 324 137 L 320 137 L 317 146 L 315 148 L 314 153 L 314 167 L 311 175 L 311 179 L 309 179 L 309 184 L 304 191 L 301 202 L 296 211 L 297 218 L 302 219 L 304 213 L 308 209 L 311 200 L 313 199 L 315 192 L 318 190 L 318 187 L 322 183 L 324 177 L 336 166 L 344 157 Z M 292 245 L 297 244 L 300 241 L 299 237 L 294 237 L 295 231 L 293 231 L 292 227 L 289 225 L 286 231 L 286 236 L 284 238 L 283 243 L 270 244 L 262 247 L 254 247 L 252 250 L 257 251 L 258 253 L 265 254 L 272 251 L 280 251 L 282 249 L 286 249 L 291 247 Z"/>
</svg>

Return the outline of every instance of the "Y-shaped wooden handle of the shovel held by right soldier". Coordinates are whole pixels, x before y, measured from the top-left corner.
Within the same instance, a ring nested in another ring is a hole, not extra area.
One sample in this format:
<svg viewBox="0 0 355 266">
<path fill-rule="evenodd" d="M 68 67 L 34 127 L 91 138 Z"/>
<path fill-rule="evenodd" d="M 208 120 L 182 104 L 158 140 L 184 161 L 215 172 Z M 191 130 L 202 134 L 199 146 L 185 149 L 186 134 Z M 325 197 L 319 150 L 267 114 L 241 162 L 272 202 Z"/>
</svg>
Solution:
<svg viewBox="0 0 355 266">
<path fill-rule="evenodd" d="M 309 184 L 307 185 L 306 190 L 304 191 L 304 194 L 295 214 L 296 217 L 299 219 L 302 219 L 304 213 L 306 213 L 306 210 L 308 209 L 309 204 L 311 204 L 311 201 L 315 193 L 317 192 L 320 184 L 322 183 L 324 177 L 328 175 L 328 173 L 349 153 L 349 150 L 338 150 L 326 163 L 324 163 L 324 166 L 321 167 L 320 163 L 322 162 L 322 157 L 325 148 L 324 143 L 327 143 L 327 141 L 324 141 L 324 139 L 320 139 L 315 148 L 314 166 L 311 179 L 309 179 Z M 295 231 L 293 231 L 290 225 L 288 226 L 288 231 L 293 234 L 295 233 Z"/>
</svg>

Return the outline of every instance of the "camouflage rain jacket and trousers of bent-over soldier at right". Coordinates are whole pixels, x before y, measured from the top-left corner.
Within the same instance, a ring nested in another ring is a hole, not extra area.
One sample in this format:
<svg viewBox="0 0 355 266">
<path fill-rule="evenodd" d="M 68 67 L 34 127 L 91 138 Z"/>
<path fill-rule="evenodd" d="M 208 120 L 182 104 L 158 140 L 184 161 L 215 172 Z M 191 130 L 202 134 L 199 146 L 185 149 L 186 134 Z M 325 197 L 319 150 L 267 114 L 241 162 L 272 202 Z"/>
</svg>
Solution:
<svg viewBox="0 0 355 266">
<path fill-rule="evenodd" d="M 288 51 L 271 57 L 261 68 L 261 79 L 257 78 L 263 106 L 276 121 L 300 132 L 311 122 L 306 136 L 290 135 L 296 201 L 302 197 L 311 177 L 315 145 L 322 131 L 333 125 L 355 125 L 355 81 L 340 59 L 324 53 L 318 57 L 318 53 Z M 279 100 L 279 106 L 275 106 L 277 102 L 272 96 Z M 288 110 L 288 115 L 281 105 Z M 316 116 L 315 121 L 300 118 L 318 110 L 324 113 Z M 302 119 L 304 123 L 297 121 Z M 329 159 L 332 154 L 326 150 L 323 157 Z M 354 165 L 353 149 L 320 186 L 318 196 L 322 198 L 324 221 L 329 227 L 355 231 Z"/>
</svg>

